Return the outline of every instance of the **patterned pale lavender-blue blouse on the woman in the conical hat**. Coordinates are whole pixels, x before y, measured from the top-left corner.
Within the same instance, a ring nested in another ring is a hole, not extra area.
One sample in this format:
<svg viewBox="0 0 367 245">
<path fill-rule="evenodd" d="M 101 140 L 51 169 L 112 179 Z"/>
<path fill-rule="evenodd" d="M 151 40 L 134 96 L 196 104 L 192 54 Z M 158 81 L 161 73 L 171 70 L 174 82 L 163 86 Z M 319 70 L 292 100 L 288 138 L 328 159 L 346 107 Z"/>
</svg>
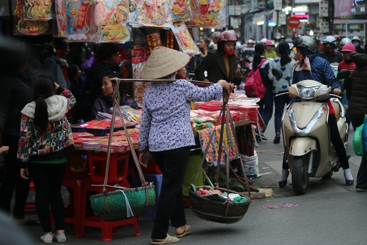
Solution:
<svg viewBox="0 0 367 245">
<path fill-rule="evenodd" d="M 186 80 L 153 82 L 144 92 L 139 152 L 163 151 L 195 145 L 190 102 L 220 100 L 223 89 L 215 83 L 200 88 Z"/>
</svg>

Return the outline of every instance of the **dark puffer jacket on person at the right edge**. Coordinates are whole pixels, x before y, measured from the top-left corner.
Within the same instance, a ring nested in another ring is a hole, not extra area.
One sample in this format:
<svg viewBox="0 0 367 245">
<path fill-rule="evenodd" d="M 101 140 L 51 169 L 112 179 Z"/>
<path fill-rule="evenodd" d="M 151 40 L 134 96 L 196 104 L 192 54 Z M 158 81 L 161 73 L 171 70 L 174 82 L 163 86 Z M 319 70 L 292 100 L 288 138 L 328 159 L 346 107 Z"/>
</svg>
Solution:
<svg viewBox="0 0 367 245">
<path fill-rule="evenodd" d="M 352 52 L 350 58 L 357 68 L 352 77 L 349 115 L 351 118 L 363 119 L 367 114 L 367 54 Z"/>
</svg>

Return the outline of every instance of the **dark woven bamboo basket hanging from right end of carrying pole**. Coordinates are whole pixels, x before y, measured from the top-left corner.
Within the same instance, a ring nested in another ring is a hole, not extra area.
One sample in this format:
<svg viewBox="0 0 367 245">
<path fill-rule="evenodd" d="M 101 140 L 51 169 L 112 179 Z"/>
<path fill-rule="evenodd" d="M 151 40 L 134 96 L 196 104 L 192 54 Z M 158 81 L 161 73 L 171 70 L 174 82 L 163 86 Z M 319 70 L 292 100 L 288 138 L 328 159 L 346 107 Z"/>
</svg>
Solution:
<svg viewBox="0 0 367 245">
<path fill-rule="evenodd" d="M 196 190 L 203 188 L 204 190 L 210 190 L 210 186 L 197 186 Z M 227 192 L 227 189 L 219 188 L 221 192 Z M 231 224 L 242 220 L 247 210 L 249 209 L 251 200 L 248 196 L 230 191 L 240 196 L 247 198 L 245 203 L 228 203 L 228 211 L 226 215 L 227 205 L 223 205 L 222 201 L 211 200 L 203 196 L 198 196 L 190 188 L 190 208 L 192 213 L 200 219 L 206 221 L 213 221 L 223 224 Z"/>
</svg>

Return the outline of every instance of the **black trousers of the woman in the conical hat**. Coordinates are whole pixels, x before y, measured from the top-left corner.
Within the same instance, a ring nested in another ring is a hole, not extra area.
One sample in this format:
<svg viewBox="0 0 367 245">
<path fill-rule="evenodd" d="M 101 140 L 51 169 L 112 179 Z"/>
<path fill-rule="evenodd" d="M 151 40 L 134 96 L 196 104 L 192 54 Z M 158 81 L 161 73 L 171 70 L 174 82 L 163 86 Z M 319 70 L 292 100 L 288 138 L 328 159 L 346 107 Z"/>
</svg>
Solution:
<svg viewBox="0 0 367 245">
<path fill-rule="evenodd" d="M 182 183 L 190 147 L 152 152 L 152 155 L 163 173 L 163 180 L 151 238 L 164 239 L 167 236 L 169 220 L 174 227 L 186 224 Z"/>
</svg>

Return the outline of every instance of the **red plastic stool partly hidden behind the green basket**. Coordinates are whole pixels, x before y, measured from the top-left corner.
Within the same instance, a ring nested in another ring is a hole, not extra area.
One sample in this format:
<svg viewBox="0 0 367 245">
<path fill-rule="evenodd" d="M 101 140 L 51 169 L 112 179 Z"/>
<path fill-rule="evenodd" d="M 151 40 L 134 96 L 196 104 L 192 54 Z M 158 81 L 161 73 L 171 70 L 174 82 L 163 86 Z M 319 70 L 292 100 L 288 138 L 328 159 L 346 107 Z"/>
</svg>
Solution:
<svg viewBox="0 0 367 245">
<path fill-rule="evenodd" d="M 129 182 L 125 179 L 123 182 L 118 183 L 120 186 L 130 188 Z M 80 236 L 83 237 L 85 235 L 85 226 L 99 227 L 102 230 L 102 241 L 112 241 L 112 233 L 116 232 L 116 227 L 134 224 L 135 234 L 140 236 L 139 228 L 138 228 L 138 220 L 136 217 L 122 220 L 122 221 L 105 221 L 99 217 L 92 216 L 86 218 L 86 204 L 87 204 L 87 193 L 88 191 L 96 191 L 98 193 L 102 193 L 102 186 L 92 186 L 99 185 L 99 183 L 92 182 L 91 180 L 86 181 L 84 185 L 83 195 L 80 196 L 82 198 L 82 208 L 81 210 L 81 228 L 80 228 Z M 102 184 L 101 184 L 102 185 Z"/>
</svg>

